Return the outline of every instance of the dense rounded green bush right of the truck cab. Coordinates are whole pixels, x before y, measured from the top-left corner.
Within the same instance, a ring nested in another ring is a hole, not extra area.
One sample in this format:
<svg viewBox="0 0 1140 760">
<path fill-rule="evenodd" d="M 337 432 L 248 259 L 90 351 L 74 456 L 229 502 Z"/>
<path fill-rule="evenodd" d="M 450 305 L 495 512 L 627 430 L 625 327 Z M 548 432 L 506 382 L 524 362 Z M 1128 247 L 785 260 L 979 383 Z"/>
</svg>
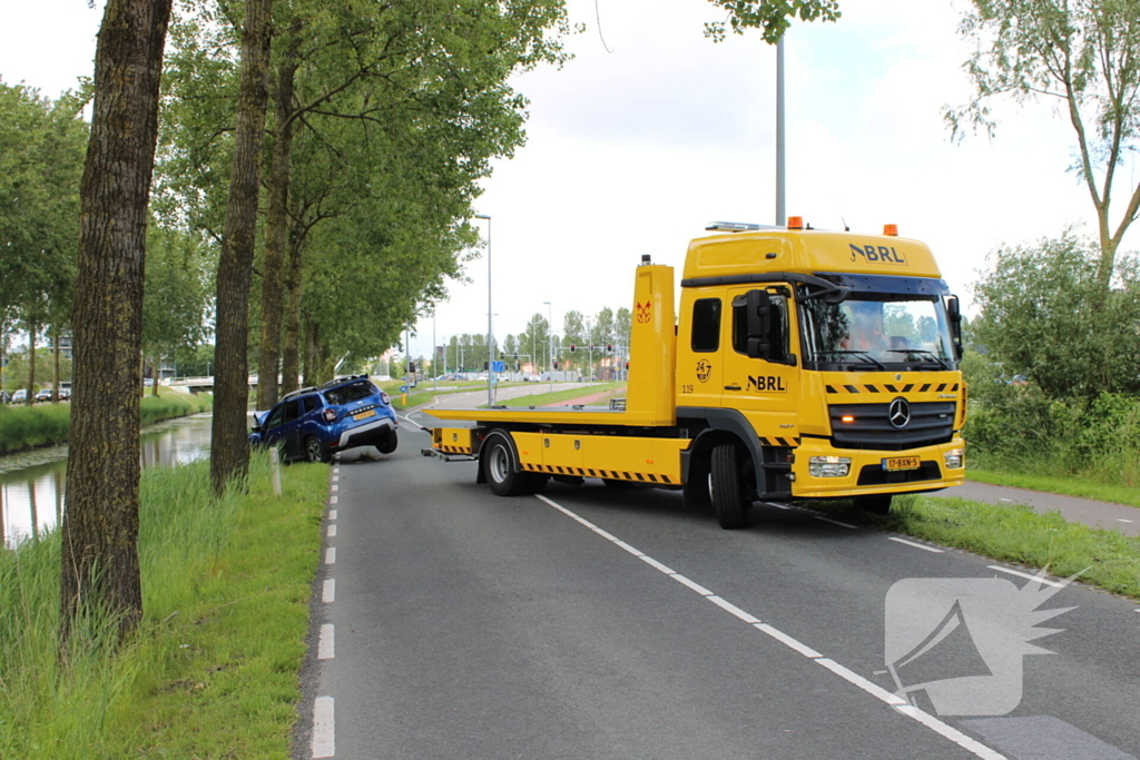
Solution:
<svg viewBox="0 0 1140 760">
<path fill-rule="evenodd" d="M 994 254 L 971 333 L 1005 379 L 1026 375 L 1056 399 L 1140 392 L 1140 270 L 1121 258 L 1106 297 L 1096 252 L 1066 231 Z"/>
</svg>

